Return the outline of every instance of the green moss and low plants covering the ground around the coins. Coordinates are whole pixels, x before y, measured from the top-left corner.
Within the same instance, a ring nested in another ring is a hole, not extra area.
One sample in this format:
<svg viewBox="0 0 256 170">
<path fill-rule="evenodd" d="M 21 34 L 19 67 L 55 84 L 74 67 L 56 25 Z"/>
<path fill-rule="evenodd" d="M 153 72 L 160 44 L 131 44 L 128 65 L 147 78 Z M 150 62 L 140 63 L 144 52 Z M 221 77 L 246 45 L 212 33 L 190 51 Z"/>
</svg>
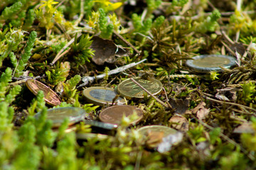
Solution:
<svg viewBox="0 0 256 170">
<path fill-rule="evenodd" d="M 255 12 L 255 1 L 2 0 L 0 169 L 256 169 Z M 99 52 L 100 66 L 93 60 Z M 210 54 L 233 56 L 237 65 L 208 74 L 186 67 Z M 116 130 L 95 132 L 81 122 L 66 132 L 68 119 L 52 128 L 53 106 L 25 84 L 36 78 L 61 97 L 54 108 L 79 107 L 98 120 L 108 106 L 88 103 L 78 86 L 103 73 L 87 87 L 154 77 L 164 91 L 159 100 L 127 100 L 144 111 L 137 125 L 129 126 L 134 114 Z M 175 128 L 183 140 L 159 152 L 137 132 L 145 125 Z M 90 132 L 107 137 L 76 137 Z"/>
</svg>

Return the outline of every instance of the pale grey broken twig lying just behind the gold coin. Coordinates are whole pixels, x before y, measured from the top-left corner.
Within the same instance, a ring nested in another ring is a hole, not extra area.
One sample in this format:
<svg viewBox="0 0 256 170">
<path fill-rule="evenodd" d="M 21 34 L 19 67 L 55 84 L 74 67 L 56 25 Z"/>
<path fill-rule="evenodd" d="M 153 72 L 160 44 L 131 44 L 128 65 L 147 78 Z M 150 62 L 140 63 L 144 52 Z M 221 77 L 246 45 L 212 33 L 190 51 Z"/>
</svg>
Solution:
<svg viewBox="0 0 256 170">
<path fill-rule="evenodd" d="M 112 74 L 117 74 L 119 72 L 123 72 L 124 70 L 126 69 L 129 69 L 131 67 L 134 67 L 136 66 L 137 64 L 140 64 L 142 62 L 146 61 L 146 59 L 144 60 L 141 60 L 139 62 L 132 62 L 131 64 L 127 64 L 125 66 L 122 66 L 122 67 L 118 67 L 116 69 L 112 69 L 110 70 L 110 72 L 108 72 L 108 75 L 112 75 Z M 96 77 L 82 77 L 82 81 L 84 82 L 83 84 L 80 84 L 79 87 L 82 87 L 82 86 L 86 86 L 87 84 L 92 84 L 95 80 L 97 79 L 103 79 L 104 77 L 106 76 L 106 74 L 100 74 L 100 75 L 97 75 Z"/>
</svg>

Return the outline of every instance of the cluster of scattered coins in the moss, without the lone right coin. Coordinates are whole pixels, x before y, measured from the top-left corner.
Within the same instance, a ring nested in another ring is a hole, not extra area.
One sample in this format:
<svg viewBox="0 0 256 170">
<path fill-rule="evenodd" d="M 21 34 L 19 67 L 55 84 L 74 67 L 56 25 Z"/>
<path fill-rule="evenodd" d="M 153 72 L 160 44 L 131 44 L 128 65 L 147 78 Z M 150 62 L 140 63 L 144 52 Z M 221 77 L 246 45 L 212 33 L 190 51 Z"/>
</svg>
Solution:
<svg viewBox="0 0 256 170">
<path fill-rule="evenodd" d="M 28 79 L 26 81 L 26 86 L 35 95 L 38 94 L 38 91 L 43 91 L 44 99 L 48 105 L 60 105 L 60 97 L 40 81 Z M 129 125 L 136 125 L 142 120 L 143 111 L 136 106 L 127 105 L 127 100 L 139 100 L 144 98 L 144 96 L 159 94 L 162 87 L 161 81 L 159 80 L 153 78 L 143 79 L 141 77 L 126 79 L 122 81 L 116 89 L 102 86 L 89 87 L 82 91 L 82 96 L 85 98 L 85 101 L 88 103 L 94 103 L 98 106 L 107 106 L 107 108 L 99 114 L 100 121 L 86 120 L 85 117 L 88 113 L 86 113 L 82 108 L 75 107 L 48 109 L 47 119 L 52 120 L 53 128 L 58 128 L 63 121 L 68 118 L 70 128 L 66 130 L 67 132 L 75 130 L 72 125 L 80 121 L 103 130 L 115 130 L 122 122 L 122 118 L 129 117 L 133 114 L 136 114 L 135 119 L 130 122 Z M 36 113 L 35 118 L 40 118 L 41 114 L 41 112 Z M 99 134 L 100 132 L 78 133 L 77 137 L 78 140 L 85 140 L 88 137 L 99 137 L 99 139 L 105 139 L 107 136 Z M 140 128 L 138 132 L 141 135 L 149 137 L 147 142 L 149 146 L 156 147 L 158 145 L 157 141 L 161 141 L 161 138 L 166 137 L 167 135 L 176 133 L 176 130 L 166 126 L 154 125 Z"/>
</svg>

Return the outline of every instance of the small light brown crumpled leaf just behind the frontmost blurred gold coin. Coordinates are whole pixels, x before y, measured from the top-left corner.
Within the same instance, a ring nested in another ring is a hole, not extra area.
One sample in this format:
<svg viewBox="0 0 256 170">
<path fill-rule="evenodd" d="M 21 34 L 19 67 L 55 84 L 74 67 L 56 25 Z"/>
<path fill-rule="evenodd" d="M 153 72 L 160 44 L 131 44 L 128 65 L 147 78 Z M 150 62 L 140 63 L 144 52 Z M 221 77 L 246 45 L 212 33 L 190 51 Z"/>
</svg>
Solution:
<svg viewBox="0 0 256 170">
<path fill-rule="evenodd" d="M 176 130 L 181 130 L 183 132 L 188 131 L 188 120 L 182 116 L 174 115 L 169 120 L 171 123 L 171 128 L 175 128 Z"/>
</svg>

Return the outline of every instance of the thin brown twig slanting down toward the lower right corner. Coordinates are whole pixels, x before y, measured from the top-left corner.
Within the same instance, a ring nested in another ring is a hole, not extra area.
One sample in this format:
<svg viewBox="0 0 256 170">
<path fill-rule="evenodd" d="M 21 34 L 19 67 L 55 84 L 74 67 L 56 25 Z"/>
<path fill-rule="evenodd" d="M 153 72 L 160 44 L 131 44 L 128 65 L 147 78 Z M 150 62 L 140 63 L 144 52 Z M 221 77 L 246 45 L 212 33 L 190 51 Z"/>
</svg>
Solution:
<svg viewBox="0 0 256 170">
<path fill-rule="evenodd" d="M 211 127 L 210 125 L 207 125 L 206 123 L 204 123 L 202 120 L 199 120 L 198 118 L 196 118 L 195 115 L 192 115 L 193 118 L 195 118 L 199 123 L 201 123 L 204 127 L 210 129 L 210 130 L 213 130 L 214 128 Z M 230 144 L 233 144 L 235 147 L 239 147 L 241 149 L 241 151 L 244 153 L 244 154 L 247 154 L 247 157 L 249 157 L 252 161 L 255 160 L 255 157 L 248 153 L 247 150 L 245 150 L 243 147 L 241 147 L 237 142 L 231 140 L 228 136 L 224 135 L 222 132 L 220 132 L 220 137 L 223 137 L 224 140 L 227 140 L 228 142 L 230 142 Z"/>
</svg>

